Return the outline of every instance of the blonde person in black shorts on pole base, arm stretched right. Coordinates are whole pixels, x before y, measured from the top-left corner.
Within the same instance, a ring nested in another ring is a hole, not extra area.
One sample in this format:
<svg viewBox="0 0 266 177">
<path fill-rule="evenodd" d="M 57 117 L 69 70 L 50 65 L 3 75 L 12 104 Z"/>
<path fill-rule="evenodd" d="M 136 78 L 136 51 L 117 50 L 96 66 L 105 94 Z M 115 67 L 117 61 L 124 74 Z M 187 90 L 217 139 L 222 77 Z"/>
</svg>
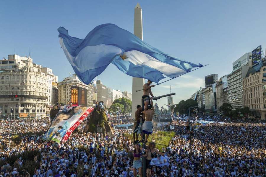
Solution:
<svg viewBox="0 0 266 177">
<path fill-rule="evenodd" d="M 155 148 L 154 142 L 150 142 L 149 146 L 146 146 L 145 152 L 146 153 L 143 156 L 146 157 L 146 176 L 151 177 L 151 169 L 153 166 L 150 165 L 150 160 L 155 158 L 155 153 L 160 155 L 164 155 L 165 153 L 161 153 L 157 148 Z"/>
</svg>

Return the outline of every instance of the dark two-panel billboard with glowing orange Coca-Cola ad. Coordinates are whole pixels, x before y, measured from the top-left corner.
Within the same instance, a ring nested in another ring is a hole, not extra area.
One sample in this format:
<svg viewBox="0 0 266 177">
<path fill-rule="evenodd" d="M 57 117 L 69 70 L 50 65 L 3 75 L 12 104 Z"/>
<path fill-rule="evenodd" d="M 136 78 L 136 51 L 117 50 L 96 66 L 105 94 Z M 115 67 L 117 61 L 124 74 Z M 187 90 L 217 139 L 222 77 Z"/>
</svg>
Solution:
<svg viewBox="0 0 266 177">
<path fill-rule="evenodd" d="M 73 106 L 87 106 L 87 89 L 71 87 L 71 102 Z"/>
</svg>

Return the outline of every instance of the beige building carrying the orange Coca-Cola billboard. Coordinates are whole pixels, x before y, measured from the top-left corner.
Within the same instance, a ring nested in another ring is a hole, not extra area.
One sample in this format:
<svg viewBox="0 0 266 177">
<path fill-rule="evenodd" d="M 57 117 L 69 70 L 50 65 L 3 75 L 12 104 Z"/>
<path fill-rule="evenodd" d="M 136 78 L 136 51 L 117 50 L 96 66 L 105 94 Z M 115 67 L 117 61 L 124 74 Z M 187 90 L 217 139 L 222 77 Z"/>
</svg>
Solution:
<svg viewBox="0 0 266 177">
<path fill-rule="evenodd" d="M 83 83 L 76 74 L 64 78 L 58 83 L 57 88 L 59 103 L 67 104 L 71 101 L 72 104 L 93 106 L 93 85 Z"/>
</svg>

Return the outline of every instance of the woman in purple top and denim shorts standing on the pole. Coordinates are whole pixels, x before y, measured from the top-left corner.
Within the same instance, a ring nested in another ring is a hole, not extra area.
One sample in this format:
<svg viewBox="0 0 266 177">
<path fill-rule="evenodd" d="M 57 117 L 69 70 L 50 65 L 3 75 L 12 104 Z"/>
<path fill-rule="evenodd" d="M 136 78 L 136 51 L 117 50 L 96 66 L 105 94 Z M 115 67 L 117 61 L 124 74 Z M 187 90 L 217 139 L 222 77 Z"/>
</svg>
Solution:
<svg viewBox="0 0 266 177">
<path fill-rule="evenodd" d="M 135 144 L 135 148 L 133 150 L 129 150 L 127 147 L 128 153 L 133 153 L 134 160 L 133 160 L 133 175 L 134 177 L 137 176 L 137 169 L 139 170 L 139 175 L 142 177 L 142 161 L 140 160 L 142 154 L 142 148 L 140 147 L 140 143 Z"/>
</svg>

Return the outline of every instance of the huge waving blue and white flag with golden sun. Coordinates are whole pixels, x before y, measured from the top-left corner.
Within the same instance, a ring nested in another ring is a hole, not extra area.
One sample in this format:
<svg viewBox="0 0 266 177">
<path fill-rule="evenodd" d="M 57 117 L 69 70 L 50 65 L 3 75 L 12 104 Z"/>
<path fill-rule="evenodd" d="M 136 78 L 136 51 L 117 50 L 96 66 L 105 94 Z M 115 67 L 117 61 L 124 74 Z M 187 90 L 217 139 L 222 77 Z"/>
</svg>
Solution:
<svg viewBox="0 0 266 177">
<path fill-rule="evenodd" d="M 129 76 L 156 83 L 165 78 L 164 75 L 174 78 L 202 67 L 165 54 L 115 24 L 95 27 L 84 40 L 69 36 L 63 27 L 59 27 L 58 32 L 69 63 L 86 84 L 110 63 Z"/>
</svg>

